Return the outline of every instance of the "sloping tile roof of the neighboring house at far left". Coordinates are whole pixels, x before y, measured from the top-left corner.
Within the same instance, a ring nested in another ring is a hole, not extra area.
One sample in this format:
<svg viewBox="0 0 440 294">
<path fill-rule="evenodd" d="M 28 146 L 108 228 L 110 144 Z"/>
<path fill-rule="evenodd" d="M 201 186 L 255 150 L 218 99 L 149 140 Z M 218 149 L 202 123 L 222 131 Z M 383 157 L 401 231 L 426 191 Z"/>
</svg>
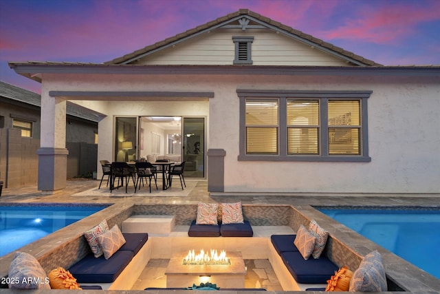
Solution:
<svg viewBox="0 0 440 294">
<path fill-rule="evenodd" d="M 41 95 L 35 92 L 25 90 L 21 87 L 10 85 L 3 81 L 0 81 L 0 97 L 7 98 L 13 101 L 26 103 L 41 107 Z M 77 105 L 70 101 L 66 103 L 66 113 L 70 116 L 76 116 L 77 118 L 83 118 L 98 123 L 98 112 L 94 112 L 91 109 Z"/>
</svg>

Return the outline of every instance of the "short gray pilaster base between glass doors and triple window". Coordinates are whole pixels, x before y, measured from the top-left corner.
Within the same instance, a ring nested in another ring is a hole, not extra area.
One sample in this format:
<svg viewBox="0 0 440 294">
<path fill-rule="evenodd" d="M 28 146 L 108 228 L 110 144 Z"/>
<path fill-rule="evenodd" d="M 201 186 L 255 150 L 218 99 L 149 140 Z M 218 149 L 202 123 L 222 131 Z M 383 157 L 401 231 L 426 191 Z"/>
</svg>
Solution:
<svg viewBox="0 0 440 294">
<path fill-rule="evenodd" d="M 224 149 L 208 149 L 208 192 L 225 191 Z"/>
</svg>

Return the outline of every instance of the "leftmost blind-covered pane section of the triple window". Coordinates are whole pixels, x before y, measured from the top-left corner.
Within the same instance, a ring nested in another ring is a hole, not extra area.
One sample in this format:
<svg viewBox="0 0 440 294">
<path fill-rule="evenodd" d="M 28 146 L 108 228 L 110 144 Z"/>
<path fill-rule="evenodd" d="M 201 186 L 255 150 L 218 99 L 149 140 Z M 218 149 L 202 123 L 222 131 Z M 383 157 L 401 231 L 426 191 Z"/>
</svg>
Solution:
<svg viewBox="0 0 440 294">
<path fill-rule="evenodd" d="M 278 154 L 278 101 L 246 99 L 246 154 Z"/>
</svg>

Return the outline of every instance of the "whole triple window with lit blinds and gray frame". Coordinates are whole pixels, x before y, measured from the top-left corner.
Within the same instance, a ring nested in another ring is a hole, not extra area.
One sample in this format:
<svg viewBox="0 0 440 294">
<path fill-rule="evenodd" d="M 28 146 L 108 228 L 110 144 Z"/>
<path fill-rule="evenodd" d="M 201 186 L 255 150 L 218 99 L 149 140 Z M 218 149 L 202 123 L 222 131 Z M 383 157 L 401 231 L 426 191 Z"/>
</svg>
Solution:
<svg viewBox="0 0 440 294">
<path fill-rule="evenodd" d="M 371 91 L 237 90 L 239 160 L 369 162 Z"/>
</svg>

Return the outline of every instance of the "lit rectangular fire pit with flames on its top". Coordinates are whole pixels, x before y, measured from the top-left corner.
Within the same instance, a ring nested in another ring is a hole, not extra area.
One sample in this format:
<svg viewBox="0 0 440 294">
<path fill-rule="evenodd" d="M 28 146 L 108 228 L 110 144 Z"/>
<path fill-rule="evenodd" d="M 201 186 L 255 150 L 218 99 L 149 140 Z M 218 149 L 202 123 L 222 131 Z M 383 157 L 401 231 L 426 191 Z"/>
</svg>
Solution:
<svg viewBox="0 0 440 294">
<path fill-rule="evenodd" d="M 179 288 L 211 282 L 222 288 L 244 288 L 246 268 L 241 252 L 223 252 L 173 254 L 165 270 L 166 286 Z M 214 261 L 216 255 L 218 259 Z"/>
</svg>

